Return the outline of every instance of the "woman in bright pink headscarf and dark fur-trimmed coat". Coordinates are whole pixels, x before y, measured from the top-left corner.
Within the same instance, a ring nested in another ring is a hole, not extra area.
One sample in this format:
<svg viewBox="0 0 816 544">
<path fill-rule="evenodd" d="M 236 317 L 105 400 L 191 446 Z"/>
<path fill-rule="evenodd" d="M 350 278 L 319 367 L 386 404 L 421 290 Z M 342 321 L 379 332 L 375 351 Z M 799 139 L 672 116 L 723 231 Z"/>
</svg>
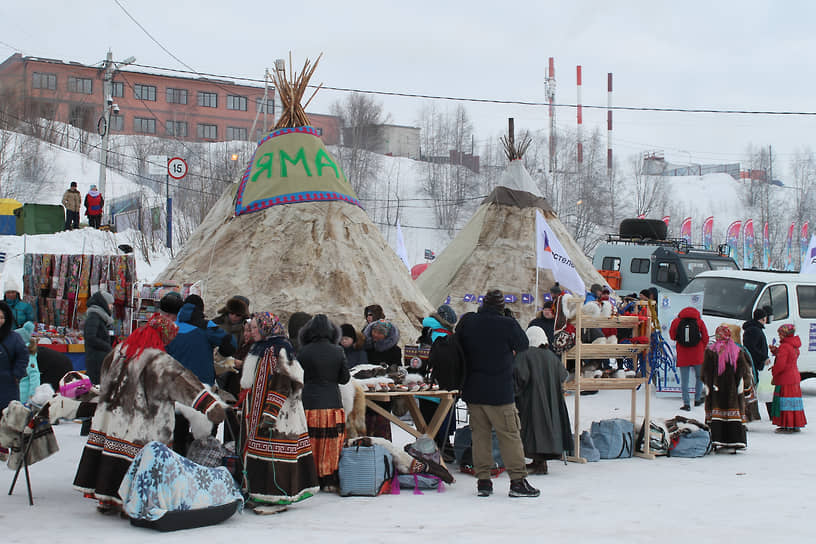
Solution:
<svg viewBox="0 0 816 544">
<path fill-rule="evenodd" d="M 748 445 L 743 389 L 751 383 L 751 366 L 731 339 L 728 325 L 717 327 L 714 338 L 703 356 L 703 383 L 708 387 L 706 424 L 711 427 L 715 448 L 736 453 Z"/>
</svg>

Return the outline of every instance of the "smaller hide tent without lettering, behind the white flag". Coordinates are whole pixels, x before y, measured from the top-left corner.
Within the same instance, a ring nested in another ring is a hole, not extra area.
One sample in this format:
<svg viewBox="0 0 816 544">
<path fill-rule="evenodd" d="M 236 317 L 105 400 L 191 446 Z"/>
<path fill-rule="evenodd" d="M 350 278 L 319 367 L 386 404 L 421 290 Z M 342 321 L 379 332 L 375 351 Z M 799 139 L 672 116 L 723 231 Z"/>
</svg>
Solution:
<svg viewBox="0 0 816 544">
<path fill-rule="evenodd" d="M 607 285 L 547 200 L 540 196 L 522 161 L 514 160 L 500 185 L 417 278 L 417 285 L 431 304 L 442 304 L 450 297 L 449 304 L 461 315 L 478 308 L 480 295 L 490 289 L 501 289 L 505 296 L 516 297 L 507 307 L 522 324 L 532 319 L 541 304 L 540 295 L 535 294 L 536 210 L 544 215 L 584 283 Z M 554 283 L 552 271 L 539 271 L 540 292 L 546 292 Z"/>
</svg>

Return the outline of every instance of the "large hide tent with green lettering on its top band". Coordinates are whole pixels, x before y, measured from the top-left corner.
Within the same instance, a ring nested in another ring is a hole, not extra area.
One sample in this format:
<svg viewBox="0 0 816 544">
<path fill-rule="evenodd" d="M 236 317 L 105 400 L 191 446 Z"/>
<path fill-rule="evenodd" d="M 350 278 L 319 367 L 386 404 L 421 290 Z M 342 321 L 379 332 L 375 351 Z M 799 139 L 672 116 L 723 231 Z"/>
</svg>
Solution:
<svg viewBox="0 0 816 544">
<path fill-rule="evenodd" d="M 324 313 L 356 328 L 363 308 L 379 304 L 403 342 L 413 340 L 432 307 L 359 206 L 340 164 L 302 126 L 308 120 L 299 99 L 314 66 L 307 61 L 297 80 L 276 81 L 295 100 L 159 280 L 202 280 L 208 310 L 243 295 L 252 311 L 284 319 Z"/>
</svg>

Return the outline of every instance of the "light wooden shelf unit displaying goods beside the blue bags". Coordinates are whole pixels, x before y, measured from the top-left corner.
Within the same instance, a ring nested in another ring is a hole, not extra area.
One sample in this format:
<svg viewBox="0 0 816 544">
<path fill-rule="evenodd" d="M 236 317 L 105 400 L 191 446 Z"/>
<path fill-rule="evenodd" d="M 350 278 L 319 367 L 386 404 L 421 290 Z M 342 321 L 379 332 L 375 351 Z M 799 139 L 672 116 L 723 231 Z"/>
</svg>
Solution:
<svg viewBox="0 0 816 544">
<path fill-rule="evenodd" d="M 646 302 L 638 303 L 639 306 L 647 304 Z M 649 421 L 650 414 L 650 396 L 651 385 L 647 376 L 640 378 L 584 378 L 582 361 L 584 359 L 609 359 L 620 357 L 631 357 L 637 361 L 637 356 L 640 353 L 649 351 L 649 344 L 584 344 L 581 342 L 582 329 L 632 329 L 632 336 L 639 336 L 638 330 L 641 325 L 638 316 L 615 316 L 615 317 L 585 317 L 578 312 L 575 318 L 575 346 L 564 352 L 561 355 L 561 360 L 564 366 L 567 366 L 567 361 L 575 361 L 575 373 L 573 381 L 564 384 L 565 391 L 574 391 L 575 406 L 573 410 L 573 442 L 575 444 L 575 455 L 568 457 L 569 461 L 576 463 L 586 463 L 586 459 L 581 457 L 581 391 L 596 391 L 596 390 L 611 390 L 611 389 L 629 389 L 632 392 L 632 410 L 630 419 L 634 426 L 634 438 L 637 442 L 638 428 L 637 428 L 637 389 L 641 385 L 644 387 L 644 421 Z M 643 332 L 643 331 L 640 331 Z M 649 338 L 651 335 L 651 321 L 646 321 L 645 336 Z M 637 363 L 635 363 L 637 368 Z M 637 444 L 633 446 L 637 448 Z M 634 455 L 643 457 L 645 459 L 654 459 L 655 456 L 649 451 L 648 436 L 644 440 L 643 452 L 634 452 Z"/>
</svg>

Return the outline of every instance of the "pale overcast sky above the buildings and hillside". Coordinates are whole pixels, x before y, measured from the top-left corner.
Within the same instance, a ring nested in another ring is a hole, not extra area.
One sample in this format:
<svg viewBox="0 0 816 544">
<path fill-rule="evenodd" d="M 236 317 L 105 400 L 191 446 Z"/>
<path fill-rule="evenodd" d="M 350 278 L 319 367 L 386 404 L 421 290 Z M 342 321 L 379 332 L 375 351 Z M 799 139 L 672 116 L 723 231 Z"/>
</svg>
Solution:
<svg viewBox="0 0 816 544">
<path fill-rule="evenodd" d="M 544 102 L 554 57 L 557 103 L 575 104 L 580 64 L 585 105 L 606 105 L 612 72 L 617 106 L 816 112 L 816 2 L 806 0 L 118 2 L 199 72 L 262 78 L 289 51 L 295 65 L 323 52 L 313 82 L 328 86 Z M 2 2 L 0 42 L 2 58 L 20 50 L 93 64 L 111 48 L 115 59 L 184 69 L 115 0 Z M 328 112 L 343 96 L 321 91 L 310 109 Z M 405 125 L 428 103 L 377 99 Z M 507 117 L 522 129 L 548 126 L 543 106 L 465 106 L 477 142 L 506 130 Z M 574 128 L 573 108 L 556 115 Z M 605 136 L 605 119 L 585 110 L 585 133 Z M 787 169 L 794 152 L 816 148 L 814 129 L 816 116 L 616 111 L 613 148 L 619 161 L 663 150 L 673 162 L 718 163 L 772 145 Z"/>
</svg>

